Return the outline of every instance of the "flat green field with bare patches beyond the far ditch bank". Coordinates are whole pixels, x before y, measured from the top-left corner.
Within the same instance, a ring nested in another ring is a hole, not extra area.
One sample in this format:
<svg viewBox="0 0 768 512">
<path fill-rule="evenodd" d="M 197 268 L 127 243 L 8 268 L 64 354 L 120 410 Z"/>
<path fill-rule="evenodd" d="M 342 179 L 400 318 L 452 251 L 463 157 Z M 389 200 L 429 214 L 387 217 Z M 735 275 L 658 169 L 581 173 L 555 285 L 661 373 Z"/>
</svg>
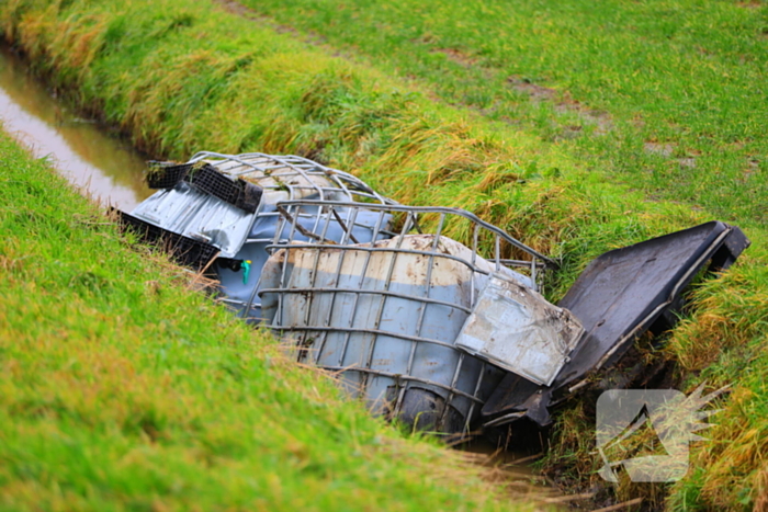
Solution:
<svg viewBox="0 0 768 512">
<path fill-rule="evenodd" d="M 241 3 L 648 196 L 768 221 L 763 2 Z"/>
</svg>

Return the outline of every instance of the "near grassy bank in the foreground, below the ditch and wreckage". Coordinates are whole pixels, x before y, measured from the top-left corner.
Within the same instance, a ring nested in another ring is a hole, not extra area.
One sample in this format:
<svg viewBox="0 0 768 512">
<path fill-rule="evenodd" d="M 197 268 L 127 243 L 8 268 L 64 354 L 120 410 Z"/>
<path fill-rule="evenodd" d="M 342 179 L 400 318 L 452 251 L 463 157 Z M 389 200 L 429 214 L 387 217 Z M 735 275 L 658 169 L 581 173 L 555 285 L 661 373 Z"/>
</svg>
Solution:
<svg viewBox="0 0 768 512">
<path fill-rule="evenodd" d="M 0 231 L 1 510 L 509 510 L 2 133 Z"/>
</svg>

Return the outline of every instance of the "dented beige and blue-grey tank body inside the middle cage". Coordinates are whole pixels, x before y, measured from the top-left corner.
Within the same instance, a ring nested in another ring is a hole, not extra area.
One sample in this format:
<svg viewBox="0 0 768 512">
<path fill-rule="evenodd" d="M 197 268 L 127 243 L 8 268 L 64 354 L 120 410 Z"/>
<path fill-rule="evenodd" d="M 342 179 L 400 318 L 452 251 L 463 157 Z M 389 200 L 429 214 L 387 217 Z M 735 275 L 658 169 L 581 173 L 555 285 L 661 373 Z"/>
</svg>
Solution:
<svg viewBox="0 0 768 512">
<path fill-rule="evenodd" d="M 399 247 L 408 250 L 432 246 L 427 235 L 403 238 Z M 454 346 L 488 276 L 450 258 L 466 251 L 453 240 L 442 238 L 433 259 L 385 250 L 396 243 L 376 242 L 377 252 L 280 251 L 263 270 L 263 315 L 289 334 L 300 361 L 340 371 L 346 388 L 375 412 L 391 410 L 398 389 L 406 389 L 402 403 L 429 392 L 458 416 L 442 430 L 461 431 L 502 376 Z"/>
</svg>

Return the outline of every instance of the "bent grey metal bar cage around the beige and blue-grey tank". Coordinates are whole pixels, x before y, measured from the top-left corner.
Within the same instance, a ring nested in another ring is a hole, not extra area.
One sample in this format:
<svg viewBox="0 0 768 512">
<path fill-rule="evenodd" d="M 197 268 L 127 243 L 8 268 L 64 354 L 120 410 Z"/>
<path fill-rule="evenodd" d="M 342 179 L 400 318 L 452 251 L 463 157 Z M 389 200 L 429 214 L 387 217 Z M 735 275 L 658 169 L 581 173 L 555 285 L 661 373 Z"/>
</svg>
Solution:
<svg viewBox="0 0 768 512">
<path fill-rule="evenodd" d="M 361 226 L 358 223 L 359 214 L 363 211 L 377 215 L 376 221 L 373 226 Z M 274 294 L 278 298 L 276 315 L 272 319 L 269 327 L 283 333 L 285 331 L 301 333 L 304 341 L 298 343 L 303 346 L 303 349 L 297 351 L 297 361 L 312 362 L 331 372 L 359 372 L 362 374 L 361 391 L 366 390 L 370 379 L 374 377 L 385 377 L 392 379 L 393 382 L 397 383 L 396 385 L 398 390 L 394 403 L 386 405 L 386 412 L 393 417 L 398 417 L 403 412 L 403 403 L 406 391 L 413 386 L 414 383 L 442 390 L 442 392 L 445 395 L 444 406 L 440 418 L 436 422 L 437 430 L 445 429 L 450 407 L 453 407 L 453 402 L 458 397 L 463 397 L 470 402 L 468 409 L 464 407 L 464 413 L 462 414 L 463 424 L 461 433 L 466 433 L 472 419 L 482 409 L 485 398 L 487 398 L 487 394 L 489 392 L 488 390 L 483 389 L 483 379 L 484 375 L 488 373 L 488 367 L 493 365 L 482 362 L 476 357 L 460 351 L 454 346 L 453 340 L 439 340 L 429 335 L 422 335 L 426 312 L 430 307 L 429 305 L 432 305 L 433 307 L 440 306 L 455 309 L 461 311 L 461 314 L 464 316 L 468 316 L 472 308 L 472 304 L 455 304 L 450 300 L 441 300 L 436 297 L 430 297 L 430 283 L 432 281 L 432 272 L 436 261 L 448 259 L 456 262 L 461 266 L 466 268 L 466 270 L 473 276 L 473 278 L 470 280 L 470 297 L 476 296 L 477 291 L 475 289 L 474 276 L 477 274 L 487 276 L 493 273 L 505 272 L 505 269 L 524 269 L 529 273 L 531 287 L 535 289 L 537 280 L 542 274 L 542 271 L 544 269 L 556 268 L 556 263 L 509 236 L 500 228 L 483 221 L 470 212 L 459 208 L 415 207 L 398 204 L 369 204 L 334 201 L 286 201 L 279 204 L 279 214 L 281 218 L 279 220 L 279 227 L 275 230 L 275 238 L 268 247 L 268 250 L 272 253 L 272 255 L 274 257 L 279 253 L 279 251 L 283 251 L 282 253 L 285 255 L 285 258 L 283 258 L 284 262 L 287 260 L 287 253 L 291 251 L 314 251 L 315 253 L 314 268 L 312 270 L 312 282 L 309 286 L 287 287 L 287 265 L 283 263 L 279 285 L 276 287 L 266 287 L 259 289 L 259 296 L 261 297 L 264 295 Z M 392 230 L 388 226 L 386 226 L 386 219 L 387 217 L 392 218 L 396 215 L 404 215 L 405 218 L 402 227 L 398 230 Z M 429 229 L 427 229 L 427 226 L 423 225 L 425 223 L 420 223 L 419 218 L 423 218 L 425 216 L 429 215 L 437 216 L 438 220 L 437 223 L 430 223 Z M 444 240 L 443 232 L 445 231 L 447 225 L 451 224 L 452 220 L 467 223 L 471 227 L 472 243 L 471 247 L 467 248 L 471 251 L 471 257 L 468 259 L 447 254 L 441 250 L 441 240 Z M 340 240 L 334 241 L 326 239 L 326 232 L 331 223 L 338 223 L 338 225 L 340 225 L 345 230 L 343 237 Z M 307 228 L 307 225 L 310 227 Z M 373 241 L 360 243 L 352 232 L 354 227 L 365 227 L 371 229 L 372 235 L 370 239 Z M 406 236 L 411 231 L 430 236 L 432 240 L 431 246 L 427 250 L 416 250 L 404 247 L 404 240 L 406 240 Z M 492 239 L 492 254 L 487 260 L 483 258 L 483 251 L 479 243 L 479 240 L 484 235 L 486 237 L 490 236 Z M 297 243 L 297 237 L 310 241 L 302 241 L 301 243 Z M 381 246 L 382 240 L 385 239 L 389 240 L 387 247 L 377 247 Z M 395 242 L 394 247 L 391 246 L 393 240 Z M 524 254 L 530 257 L 530 260 L 502 259 L 502 243 L 508 243 L 517 250 L 522 251 Z M 329 248 L 332 248 L 334 250 L 341 249 L 342 254 L 345 251 L 362 251 L 364 253 L 363 272 L 360 275 L 357 286 L 339 286 L 345 259 L 343 255 L 339 257 L 335 275 L 331 277 L 331 282 L 334 284 L 328 287 L 315 286 L 315 281 L 318 274 L 320 252 L 323 250 L 328 250 Z M 375 253 L 392 254 L 389 266 L 386 271 L 384 288 L 364 289 L 363 281 L 365 278 L 365 274 L 368 273 L 371 260 L 374 258 L 373 254 Z M 403 294 L 391 289 L 393 272 L 395 271 L 396 261 L 400 254 L 421 257 L 428 260 L 429 263 L 427 265 L 426 276 L 427 286 L 425 287 L 425 293 L 422 296 Z M 260 283 L 260 286 L 261 284 L 262 283 Z M 305 294 L 306 296 L 330 294 L 331 306 L 325 311 L 325 318 L 321 325 L 310 322 L 312 311 L 309 308 L 304 311 L 303 325 L 286 326 L 283 323 L 282 316 L 284 315 L 283 307 L 285 298 L 286 296 L 296 294 Z M 331 325 L 334 305 L 336 304 L 336 297 L 340 294 L 351 294 L 354 297 L 352 311 L 347 326 Z M 372 326 L 365 328 L 354 327 L 354 318 L 358 315 L 358 307 L 363 295 L 380 295 L 382 299 Z M 382 316 L 386 307 L 386 303 L 387 300 L 396 299 L 405 299 L 418 304 L 419 315 L 413 333 L 392 332 L 382 329 Z M 248 307 L 250 307 L 250 305 L 248 305 Z M 337 364 L 328 364 L 327 361 L 324 361 L 326 341 L 331 332 L 343 333 L 343 349 L 340 352 Z M 309 333 L 317 334 L 312 337 L 313 341 L 310 343 L 306 341 Z M 362 361 L 360 365 L 350 367 L 349 365 L 343 364 L 343 362 L 349 344 L 355 334 L 373 335 L 374 341 L 369 346 L 365 361 Z M 396 338 L 402 340 L 402 342 L 410 344 L 408 363 L 404 372 L 386 372 L 384 369 L 376 369 L 372 367 L 373 352 L 380 337 Z M 452 377 L 450 382 L 430 380 L 414 375 L 417 346 L 420 343 L 439 345 L 455 353 L 455 364 L 452 368 Z M 314 353 L 314 356 L 310 357 L 308 355 L 310 353 Z M 475 366 L 479 365 L 479 369 L 474 372 L 474 385 L 470 386 L 468 388 L 466 386 L 462 388 L 459 386 L 459 379 L 462 374 L 462 368 L 467 365 L 467 360 L 476 361 L 477 363 L 473 364 Z"/>
</svg>

